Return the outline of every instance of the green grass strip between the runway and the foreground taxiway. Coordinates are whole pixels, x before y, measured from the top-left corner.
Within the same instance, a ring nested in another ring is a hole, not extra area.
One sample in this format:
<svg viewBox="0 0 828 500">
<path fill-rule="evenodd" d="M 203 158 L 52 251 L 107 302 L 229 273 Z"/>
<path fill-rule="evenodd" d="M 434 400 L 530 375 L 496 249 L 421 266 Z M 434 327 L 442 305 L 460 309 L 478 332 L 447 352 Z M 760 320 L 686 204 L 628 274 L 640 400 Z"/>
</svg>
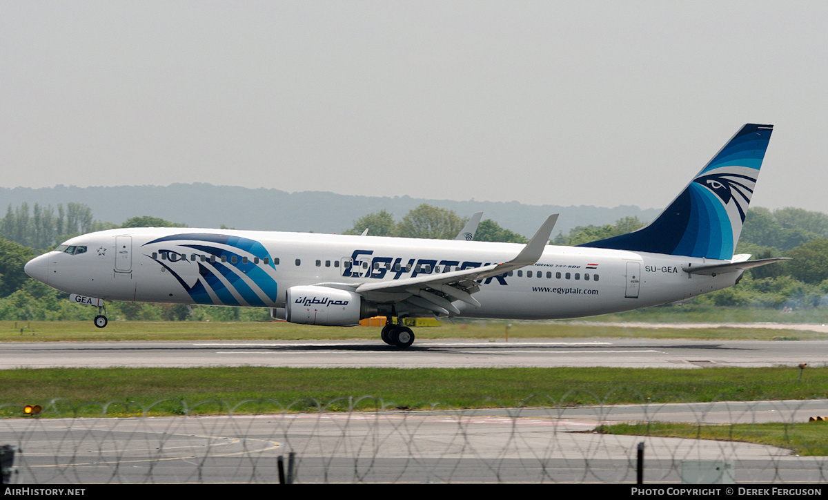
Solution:
<svg viewBox="0 0 828 500">
<path fill-rule="evenodd" d="M 618 405 L 712 400 L 804 400 L 828 394 L 828 368 L 43 368 L 0 372 L 0 416 L 20 416 L 22 405 L 59 398 L 60 416 L 98 416 L 100 405 L 131 405 L 131 411 L 172 401 L 179 408 L 203 401 L 267 400 L 244 413 L 282 411 L 296 401 L 372 396 L 357 410 L 443 409 L 501 406 Z M 608 382 L 611 381 L 611 382 Z M 96 405 L 79 410 L 94 401 Z M 306 405 L 303 403 L 302 405 Z M 341 403 L 338 403 L 341 406 Z M 312 405 L 311 405 L 312 406 Z M 114 407 L 113 407 L 114 408 Z M 291 407 L 291 410 L 305 407 Z M 313 408 L 310 408 L 311 410 Z M 328 410 L 343 410 L 341 407 Z M 348 410 L 348 408 L 344 408 Z M 152 415 L 176 413 L 157 406 Z M 199 410 L 226 413 L 223 407 Z M 109 412 L 108 412 L 109 413 Z M 115 412 L 121 415 L 121 410 Z"/>
</svg>

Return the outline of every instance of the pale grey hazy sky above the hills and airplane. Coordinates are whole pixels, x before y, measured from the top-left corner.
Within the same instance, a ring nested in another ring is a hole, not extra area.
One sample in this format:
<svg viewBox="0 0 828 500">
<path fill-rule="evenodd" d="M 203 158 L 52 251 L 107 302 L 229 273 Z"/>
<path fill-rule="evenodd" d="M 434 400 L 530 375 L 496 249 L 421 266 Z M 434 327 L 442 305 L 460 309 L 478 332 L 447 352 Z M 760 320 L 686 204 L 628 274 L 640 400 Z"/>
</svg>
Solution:
<svg viewBox="0 0 828 500">
<path fill-rule="evenodd" d="M 826 26 L 822 1 L 0 0 L 0 186 L 661 208 L 761 123 L 752 205 L 828 212 Z"/>
</svg>

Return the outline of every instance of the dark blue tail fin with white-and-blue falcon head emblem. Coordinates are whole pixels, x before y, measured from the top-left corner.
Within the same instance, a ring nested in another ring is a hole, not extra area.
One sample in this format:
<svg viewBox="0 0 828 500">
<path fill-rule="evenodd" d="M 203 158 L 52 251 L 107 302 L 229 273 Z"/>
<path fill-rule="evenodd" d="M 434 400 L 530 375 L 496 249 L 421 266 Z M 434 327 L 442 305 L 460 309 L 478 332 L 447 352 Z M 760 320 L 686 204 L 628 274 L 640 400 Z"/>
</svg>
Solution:
<svg viewBox="0 0 828 500">
<path fill-rule="evenodd" d="M 648 226 L 580 246 L 729 260 L 773 125 L 747 124 Z"/>
</svg>

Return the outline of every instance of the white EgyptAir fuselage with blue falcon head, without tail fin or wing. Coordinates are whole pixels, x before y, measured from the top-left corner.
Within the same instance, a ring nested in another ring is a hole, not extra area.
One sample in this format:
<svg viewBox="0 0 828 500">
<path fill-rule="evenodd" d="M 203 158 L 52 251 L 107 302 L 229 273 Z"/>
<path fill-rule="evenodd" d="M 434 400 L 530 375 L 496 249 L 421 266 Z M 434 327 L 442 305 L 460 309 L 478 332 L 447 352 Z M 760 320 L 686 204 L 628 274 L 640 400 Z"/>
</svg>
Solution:
<svg viewBox="0 0 828 500">
<path fill-rule="evenodd" d="M 174 235 L 199 235 L 209 245 Z M 49 252 L 26 265 L 26 272 L 66 293 L 104 300 L 268 308 L 285 307 L 286 290 L 297 285 L 375 283 L 469 269 L 513 259 L 523 247 L 191 228 L 101 231 L 65 245 L 85 251 Z M 211 262 L 217 248 L 233 256 Z M 741 271 L 706 276 L 682 270 L 716 262 L 721 261 L 547 245 L 535 265 L 480 280 L 474 293 L 479 307 L 462 301 L 454 305 L 460 316 L 472 318 L 554 319 L 615 313 L 686 300 L 735 284 Z"/>
</svg>

